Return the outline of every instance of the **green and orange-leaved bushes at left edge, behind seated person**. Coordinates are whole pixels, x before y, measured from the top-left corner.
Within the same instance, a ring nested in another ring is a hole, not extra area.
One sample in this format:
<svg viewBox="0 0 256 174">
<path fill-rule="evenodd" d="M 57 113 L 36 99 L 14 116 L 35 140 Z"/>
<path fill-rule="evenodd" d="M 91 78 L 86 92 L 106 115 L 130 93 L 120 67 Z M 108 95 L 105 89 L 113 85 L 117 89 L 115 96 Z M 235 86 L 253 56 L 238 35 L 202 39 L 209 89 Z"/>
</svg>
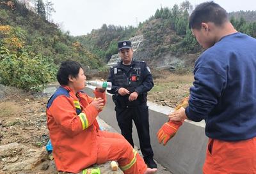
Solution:
<svg viewBox="0 0 256 174">
<path fill-rule="evenodd" d="M 19 27 L 0 25 L 0 82 L 22 89 L 41 90 L 55 79 L 53 59 L 35 55 L 26 46 L 26 32 Z"/>
</svg>

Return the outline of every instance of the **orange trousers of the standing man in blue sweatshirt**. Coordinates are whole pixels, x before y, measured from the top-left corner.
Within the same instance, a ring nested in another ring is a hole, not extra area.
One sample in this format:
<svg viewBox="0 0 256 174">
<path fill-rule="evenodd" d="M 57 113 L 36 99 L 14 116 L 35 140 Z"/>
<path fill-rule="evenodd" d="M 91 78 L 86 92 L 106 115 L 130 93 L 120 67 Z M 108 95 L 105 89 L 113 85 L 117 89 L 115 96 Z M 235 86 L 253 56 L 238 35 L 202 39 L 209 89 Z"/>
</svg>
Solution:
<svg viewBox="0 0 256 174">
<path fill-rule="evenodd" d="M 256 137 L 243 141 L 209 138 L 204 174 L 256 174 Z"/>
</svg>

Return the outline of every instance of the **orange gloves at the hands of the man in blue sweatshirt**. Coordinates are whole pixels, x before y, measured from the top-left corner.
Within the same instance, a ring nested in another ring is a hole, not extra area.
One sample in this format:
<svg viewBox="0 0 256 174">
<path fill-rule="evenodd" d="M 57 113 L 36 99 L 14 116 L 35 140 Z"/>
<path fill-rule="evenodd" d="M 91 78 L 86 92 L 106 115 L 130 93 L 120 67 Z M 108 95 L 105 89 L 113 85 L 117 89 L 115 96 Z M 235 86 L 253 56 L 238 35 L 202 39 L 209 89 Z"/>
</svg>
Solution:
<svg viewBox="0 0 256 174">
<path fill-rule="evenodd" d="M 178 105 L 175 108 L 175 110 L 179 110 L 179 108 L 181 107 L 186 108 L 188 106 L 188 99 L 189 97 L 184 98 L 182 103 Z M 164 123 L 163 126 L 157 132 L 157 138 L 159 143 L 163 142 L 163 145 L 166 145 L 166 143 L 171 138 L 173 138 L 173 136 L 175 136 L 176 132 L 178 131 L 179 127 L 182 125 L 183 122 L 184 120 L 182 122 L 174 122 L 170 120 L 169 122 Z"/>
</svg>

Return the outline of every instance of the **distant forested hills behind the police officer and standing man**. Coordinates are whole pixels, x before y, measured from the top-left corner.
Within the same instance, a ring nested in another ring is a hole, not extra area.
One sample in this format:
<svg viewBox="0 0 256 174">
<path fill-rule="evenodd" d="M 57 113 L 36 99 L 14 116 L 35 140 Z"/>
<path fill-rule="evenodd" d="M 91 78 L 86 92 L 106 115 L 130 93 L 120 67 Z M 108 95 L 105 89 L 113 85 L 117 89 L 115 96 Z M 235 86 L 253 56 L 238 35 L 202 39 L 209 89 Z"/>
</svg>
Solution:
<svg viewBox="0 0 256 174">
<path fill-rule="evenodd" d="M 112 54 L 117 54 L 117 41 L 143 34 L 144 40 L 134 57 L 156 67 L 174 66 L 190 69 L 202 48 L 188 28 L 189 12 L 193 6 L 189 1 L 180 5 L 156 10 L 138 27 L 120 27 L 106 24 L 85 36 L 77 36 L 86 48 L 108 62 Z M 229 15 L 237 31 L 256 37 L 255 11 L 238 11 Z M 152 14 L 153 15 L 153 14 Z M 234 16 L 233 16 L 234 15 Z M 254 15 L 254 16 L 253 16 Z M 246 19 L 250 20 L 246 20 Z"/>
</svg>

